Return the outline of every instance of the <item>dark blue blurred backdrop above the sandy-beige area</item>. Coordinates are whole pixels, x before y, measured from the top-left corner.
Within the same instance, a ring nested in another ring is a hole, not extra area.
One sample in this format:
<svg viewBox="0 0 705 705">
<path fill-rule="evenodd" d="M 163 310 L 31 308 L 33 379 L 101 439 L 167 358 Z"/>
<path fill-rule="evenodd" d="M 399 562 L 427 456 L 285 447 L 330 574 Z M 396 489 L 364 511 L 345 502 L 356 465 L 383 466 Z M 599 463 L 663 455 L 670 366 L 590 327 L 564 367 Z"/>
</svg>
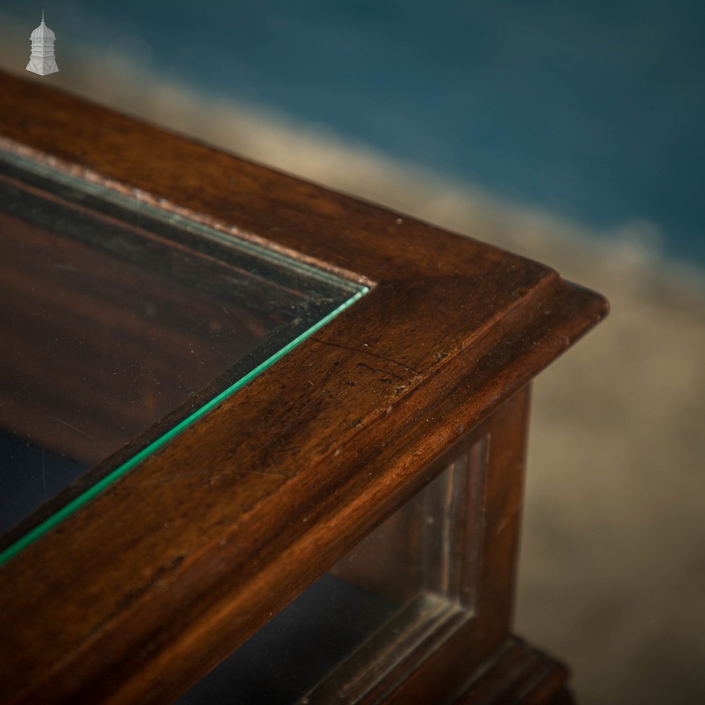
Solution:
<svg viewBox="0 0 705 705">
<path fill-rule="evenodd" d="M 589 226 L 649 220 L 669 255 L 705 266 L 701 2 L 43 5 L 59 59 L 62 44 L 124 47 L 184 82 Z M 4 7 L 29 32 L 42 4 Z"/>
</svg>

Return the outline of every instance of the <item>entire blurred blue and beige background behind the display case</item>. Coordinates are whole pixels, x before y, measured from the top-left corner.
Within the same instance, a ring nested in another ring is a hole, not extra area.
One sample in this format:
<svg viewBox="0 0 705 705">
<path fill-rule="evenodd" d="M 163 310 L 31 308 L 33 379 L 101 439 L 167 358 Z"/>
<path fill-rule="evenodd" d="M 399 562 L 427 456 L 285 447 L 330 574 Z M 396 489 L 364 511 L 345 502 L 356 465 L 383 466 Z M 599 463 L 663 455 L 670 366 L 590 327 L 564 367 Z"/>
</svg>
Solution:
<svg viewBox="0 0 705 705">
<path fill-rule="evenodd" d="M 42 8 L 60 71 L 37 77 Z M 607 295 L 534 385 L 517 632 L 584 704 L 696 703 L 704 20 L 689 0 L 0 0 L 0 66 Z"/>
</svg>

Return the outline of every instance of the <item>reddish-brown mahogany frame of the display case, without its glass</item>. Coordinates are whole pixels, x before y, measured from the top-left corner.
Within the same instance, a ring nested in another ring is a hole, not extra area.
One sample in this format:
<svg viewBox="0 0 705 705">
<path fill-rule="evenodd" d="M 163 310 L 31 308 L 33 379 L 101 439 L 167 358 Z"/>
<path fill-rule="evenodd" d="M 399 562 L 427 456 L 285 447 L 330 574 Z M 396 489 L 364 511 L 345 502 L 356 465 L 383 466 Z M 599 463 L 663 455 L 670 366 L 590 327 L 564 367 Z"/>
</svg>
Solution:
<svg viewBox="0 0 705 705">
<path fill-rule="evenodd" d="M 171 701 L 481 438 L 474 616 L 358 701 L 460 697 L 525 658 L 507 639 L 527 384 L 603 298 L 68 94 L 0 92 L 2 149 L 372 288 L 0 569 L 0 699 Z"/>
</svg>

